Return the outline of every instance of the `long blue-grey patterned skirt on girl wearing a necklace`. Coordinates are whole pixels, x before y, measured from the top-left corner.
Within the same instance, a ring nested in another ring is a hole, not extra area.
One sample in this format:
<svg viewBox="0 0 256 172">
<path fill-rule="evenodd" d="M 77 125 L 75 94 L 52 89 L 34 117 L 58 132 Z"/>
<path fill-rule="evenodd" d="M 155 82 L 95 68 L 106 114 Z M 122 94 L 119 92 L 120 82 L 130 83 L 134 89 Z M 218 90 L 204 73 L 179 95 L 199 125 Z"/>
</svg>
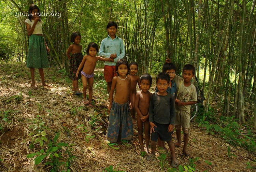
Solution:
<svg viewBox="0 0 256 172">
<path fill-rule="evenodd" d="M 133 138 L 132 118 L 129 102 L 119 104 L 113 101 L 109 116 L 108 136 L 110 142 L 131 140 Z"/>
</svg>

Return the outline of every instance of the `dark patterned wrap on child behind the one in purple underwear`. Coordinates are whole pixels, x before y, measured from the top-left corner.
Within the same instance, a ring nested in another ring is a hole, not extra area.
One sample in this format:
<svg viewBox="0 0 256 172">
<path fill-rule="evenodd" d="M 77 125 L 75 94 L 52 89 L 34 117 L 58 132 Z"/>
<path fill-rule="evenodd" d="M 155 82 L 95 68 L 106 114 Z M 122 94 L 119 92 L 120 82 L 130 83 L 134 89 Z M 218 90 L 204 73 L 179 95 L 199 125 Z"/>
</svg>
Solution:
<svg viewBox="0 0 256 172">
<path fill-rule="evenodd" d="M 69 71 L 70 71 L 70 79 L 72 81 L 78 80 L 81 78 L 81 70 L 79 71 L 78 77 L 75 76 L 75 73 L 80 65 L 80 63 L 83 60 L 83 54 L 82 53 L 74 53 L 71 55 L 70 61 L 69 61 Z"/>
</svg>

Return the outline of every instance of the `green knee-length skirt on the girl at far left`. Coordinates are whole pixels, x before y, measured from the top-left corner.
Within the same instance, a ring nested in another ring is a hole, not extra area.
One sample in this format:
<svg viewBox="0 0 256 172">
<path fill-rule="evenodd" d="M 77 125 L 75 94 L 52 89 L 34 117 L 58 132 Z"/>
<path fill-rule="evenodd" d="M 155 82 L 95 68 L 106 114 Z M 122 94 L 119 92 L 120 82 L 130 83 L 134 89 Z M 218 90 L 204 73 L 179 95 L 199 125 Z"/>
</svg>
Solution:
<svg viewBox="0 0 256 172">
<path fill-rule="evenodd" d="M 32 34 L 29 37 L 27 67 L 49 68 L 43 36 Z"/>
</svg>

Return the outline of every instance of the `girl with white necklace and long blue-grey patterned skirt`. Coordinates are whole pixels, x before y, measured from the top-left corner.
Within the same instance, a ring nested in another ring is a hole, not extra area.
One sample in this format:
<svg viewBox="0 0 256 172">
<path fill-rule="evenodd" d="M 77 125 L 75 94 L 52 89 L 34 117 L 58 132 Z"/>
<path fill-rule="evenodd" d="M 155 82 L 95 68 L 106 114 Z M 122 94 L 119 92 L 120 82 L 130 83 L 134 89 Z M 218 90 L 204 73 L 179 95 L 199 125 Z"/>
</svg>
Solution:
<svg viewBox="0 0 256 172">
<path fill-rule="evenodd" d="M 130 110 L 132 107 L 131 78 L 127 77 L 130 69 L 125 59 L 119 59 L 116 62 L 117 76 L 113 78 L 110 90 L 109 104 L 109 126 L 107 144 L 113 149 L 119 149 L 117 140 L 124 145 L 133 138 L 132 117 Z M 113 99 L 115 90 L 115 97 Z"/>
</svg>

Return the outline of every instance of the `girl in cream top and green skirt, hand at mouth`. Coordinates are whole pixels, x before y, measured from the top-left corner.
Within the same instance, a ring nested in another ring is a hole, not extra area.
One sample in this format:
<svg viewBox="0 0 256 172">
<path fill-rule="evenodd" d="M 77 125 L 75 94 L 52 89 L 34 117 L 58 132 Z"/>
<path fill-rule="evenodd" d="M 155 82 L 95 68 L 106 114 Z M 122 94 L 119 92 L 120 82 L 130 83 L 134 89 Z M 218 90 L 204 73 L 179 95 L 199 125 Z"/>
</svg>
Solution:
<svg viewBox="0 0 256 172">
<path fill-rule="evenodd" d="M 27 58 L 27 67 L 30 68 L 31 73 L 31 87 L 33 89 L 37 89 L 35 86 L 34 74 L 35 68 L 38 68 L 42 85 L 48 86 L 44 82 L 44 72 L 43 68 L 49 68 L 49 62 L 47 58 L 47 52 L 50 51 L 48 48 L 42 31 L 43 21 L 40 19 L 40 10 L 37 5 L 31 4 L 28 9 L 29 16 L 25 20 L 27 25 L 27 31 L 29 37 L 29 45 L 28 45 L 28 58 Z"/>
</svg>

